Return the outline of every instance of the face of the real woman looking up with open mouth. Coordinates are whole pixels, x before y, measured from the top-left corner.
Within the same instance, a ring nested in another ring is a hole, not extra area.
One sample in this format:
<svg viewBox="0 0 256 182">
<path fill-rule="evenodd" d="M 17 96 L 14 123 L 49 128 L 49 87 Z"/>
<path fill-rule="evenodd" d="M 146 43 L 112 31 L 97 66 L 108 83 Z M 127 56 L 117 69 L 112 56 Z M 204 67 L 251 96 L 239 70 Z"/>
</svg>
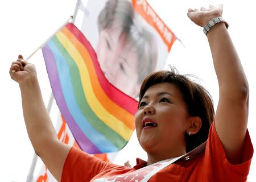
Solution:
<svg viewBox="0 0 256 182">
<path fill-rule="evenodd" d="M 188 119 L 186 104 L 174 84 L 152 85 L 144 94 L 135 115 L 139 143 L 148 154 L 185 152 Z"/>
</svg>

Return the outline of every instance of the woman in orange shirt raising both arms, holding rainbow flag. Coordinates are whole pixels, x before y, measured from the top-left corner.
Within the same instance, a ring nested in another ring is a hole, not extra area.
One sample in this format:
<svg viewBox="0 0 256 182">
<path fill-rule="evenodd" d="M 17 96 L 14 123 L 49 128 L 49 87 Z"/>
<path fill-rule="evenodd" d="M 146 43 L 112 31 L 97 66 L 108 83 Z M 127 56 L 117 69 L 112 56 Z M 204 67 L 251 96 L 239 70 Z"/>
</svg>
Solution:
<svg viewBox="0 0 256 182">
<path fill-rule="evenodd" d="M 189 18 L 201 27 L 221 15 L 221 5 L 188 10 Z M 253 155 L 246 129 L 249 86 L 224 22 L 210 28 L 207 38 L 220 87 L 216 115 L 200 85 L 174 71 L 151 73 L 143 81 L 135 115 L 137 137 L 148 160 L 137 159 L 133 168 L 102 162 L 59 142 L 35 68 L 19 56 L 10 75 L 20 86 L 28 136 L 53 176 L 59 181 L 94 182 L 246 181 Z M 193 148 L 199 145 L 199 154 L 175 160 L 188 151 L 198 152 Z"/>
</svg>

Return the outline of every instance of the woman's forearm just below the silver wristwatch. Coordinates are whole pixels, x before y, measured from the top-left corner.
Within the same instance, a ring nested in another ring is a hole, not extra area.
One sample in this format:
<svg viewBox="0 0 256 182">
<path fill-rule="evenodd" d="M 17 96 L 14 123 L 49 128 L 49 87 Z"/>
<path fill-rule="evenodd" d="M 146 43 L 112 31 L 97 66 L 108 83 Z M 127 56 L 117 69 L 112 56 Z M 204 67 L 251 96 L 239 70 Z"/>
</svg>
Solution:
<svg viewBox="0 0 256 182">
<path fill-rule="evenodd" d="M 208 32 L 213 64 L 221 94 L 238 98 L 248 95 L 249 86 L 237 51 L 224 23 L 218 23 Z"/>
</svg>

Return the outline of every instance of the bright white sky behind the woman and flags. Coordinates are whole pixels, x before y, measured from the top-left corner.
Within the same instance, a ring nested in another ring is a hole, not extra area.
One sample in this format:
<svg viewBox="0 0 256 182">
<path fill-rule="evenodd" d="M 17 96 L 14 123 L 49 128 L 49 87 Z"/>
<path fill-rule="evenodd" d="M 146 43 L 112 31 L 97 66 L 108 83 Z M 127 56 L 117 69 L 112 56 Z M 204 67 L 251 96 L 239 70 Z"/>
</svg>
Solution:
<svg viewBox="0 0 256 182">
<path fill-rule="evenodd" d="M 156 1 L 148 0 L 156 13 L 164 20 L 184 46 L 177 42 L 171 50 L 168 61 L 179 69 L 180 73 L 192 73 L 201 78 L 201 83 L 212 94 L 214 106 L 218 102 L 218 85 L 214 75 L 212 58 L 203 33 L 203 28 L 197 27 L 187 18 L 187 9 L 200 8 L 209 4 L 215 5 L 217 1 Z M 255 6 L 254 1 L 228 1 L 220 0 L 217 3 L 224 5 L 223 17 L 229 23 L 229 33 L 242 61 L 243 68 L 250 85 L 250 111 L 248 128 L 251 140 L 256 144 L 256 84 L 255 78 Z M 26 181 L 31 165 L 34 150 L 28 139 L 23 121 L 22 105 L 19 87 L 9 77 L 11 61 L 18 58 L 18 54 L 27 57 L 36 47 L 44 42 L 56 28 L 73 14 L 76 1 L 44 0 L 44 1 L 1 1 L 1 57 L 3 68 L 0 72 L 0 110 L 2 142 L 0 153 L 0 181 Z M 42 52 L 38 51 L 30 60 L 36 65 L 43 99 L 47 104 L 51 89 L 49 87 L 46 68 L 44 67 Z M 56 122 L 56 106 L 52 108 L 52 121 Z M 146 159 L 146 155 L 139 148 L 136 138 L 119 152 L 114 162 L 123 164 L 135 158 Z M 39 162 L 36 171 L 40 169 Z M 248 181 L 255 181 L 256 160 L 251 163 Z M 37 173 L 35 173 L 36 176 Z"/>
</svg>

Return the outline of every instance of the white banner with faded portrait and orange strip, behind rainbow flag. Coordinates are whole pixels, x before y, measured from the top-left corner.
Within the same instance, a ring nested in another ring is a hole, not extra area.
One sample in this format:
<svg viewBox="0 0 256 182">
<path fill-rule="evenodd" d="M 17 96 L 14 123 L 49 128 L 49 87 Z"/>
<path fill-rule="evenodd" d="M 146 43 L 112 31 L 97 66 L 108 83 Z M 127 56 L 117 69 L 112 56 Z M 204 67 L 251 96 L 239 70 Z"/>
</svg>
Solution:
<svg viewBox="0 0 256 182">
<path fill-rule="evenodd" d="M 175 36 L 145 0 L 94 0 L 86 9 L 81 31 L 106 78 L 137 98 L 144 77 L 163 69 Z"/>
</svg>

